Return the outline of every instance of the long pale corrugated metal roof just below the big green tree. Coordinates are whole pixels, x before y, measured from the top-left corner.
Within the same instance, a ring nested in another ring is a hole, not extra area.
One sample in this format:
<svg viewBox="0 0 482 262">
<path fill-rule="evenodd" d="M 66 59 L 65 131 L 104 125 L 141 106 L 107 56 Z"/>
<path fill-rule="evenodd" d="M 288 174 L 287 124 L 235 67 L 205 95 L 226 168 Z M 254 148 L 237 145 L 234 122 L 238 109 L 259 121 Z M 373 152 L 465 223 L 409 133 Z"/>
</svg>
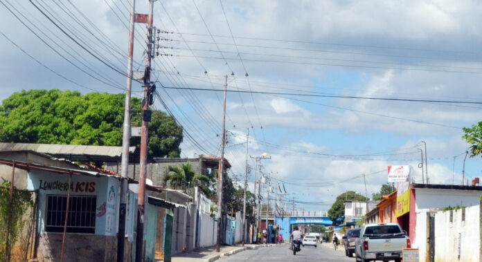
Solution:
<svg viewBox="0 0 482 262">
<path fill-rule="evenodd" d="M 0 151 L 32 150 L 38 153 L 51 155 L 87 155 L 87 156 L 122 156 L 122 147 L 84 146 L 75 144 L 26 144 L 26 143 L 1 143 Z M 129 147 L 129 152 L 134 153 L 136 147 Z"/>
</svg>

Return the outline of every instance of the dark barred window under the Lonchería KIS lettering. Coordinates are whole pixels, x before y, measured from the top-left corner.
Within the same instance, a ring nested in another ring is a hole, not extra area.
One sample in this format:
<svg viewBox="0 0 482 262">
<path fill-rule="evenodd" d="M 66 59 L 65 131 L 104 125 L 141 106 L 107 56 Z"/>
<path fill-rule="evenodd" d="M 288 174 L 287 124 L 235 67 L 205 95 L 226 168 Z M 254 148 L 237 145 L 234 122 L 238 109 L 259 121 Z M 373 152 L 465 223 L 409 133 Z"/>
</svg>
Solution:
<svg viewBox="0 0 482 262">
<path fill-rule="evenodd" d="M 64 232 L 67 196 L 47 195 L 46 232 Z M 66 232 L 96 232 L 97 196 L 70 196 Z"/>
</svg>

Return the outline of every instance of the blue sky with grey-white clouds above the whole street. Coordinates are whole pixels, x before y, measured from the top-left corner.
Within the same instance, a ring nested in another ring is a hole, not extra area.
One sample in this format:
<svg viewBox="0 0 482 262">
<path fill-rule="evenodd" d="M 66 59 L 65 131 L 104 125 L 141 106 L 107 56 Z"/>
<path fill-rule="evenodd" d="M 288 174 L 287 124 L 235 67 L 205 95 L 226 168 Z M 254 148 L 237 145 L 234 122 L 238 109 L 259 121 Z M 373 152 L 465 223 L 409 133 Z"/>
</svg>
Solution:
<svg viewBox="0 0 482 262">
<path fill-rule="evenodd" d="M 130 0 L 0 3 L 0 100 L 125 92 Z M 148 13 L 148 1 L 135 8 Z M 463 127 L 481 120 L 481 11 L 477 1 L 156 1 L 153 108 L 184 127 L 181 157 L 220 156 L 226 84 L 231 178 L 244 180 L 249 130 L 249 189 L 261 170 L 262 194 L 284 185 L 296 209 L 327 211 L 347 190 L 372 196 L 389 165 L 411 165 L 422 183 L 421 141 L 429 183 L 460 185 Z M 136 24 L 136 71 L 146 32 Z M 132 90 L 141 97 L 141 84 Z M 480 165 L 467 157 L 465 178 Z"/>
</svg>

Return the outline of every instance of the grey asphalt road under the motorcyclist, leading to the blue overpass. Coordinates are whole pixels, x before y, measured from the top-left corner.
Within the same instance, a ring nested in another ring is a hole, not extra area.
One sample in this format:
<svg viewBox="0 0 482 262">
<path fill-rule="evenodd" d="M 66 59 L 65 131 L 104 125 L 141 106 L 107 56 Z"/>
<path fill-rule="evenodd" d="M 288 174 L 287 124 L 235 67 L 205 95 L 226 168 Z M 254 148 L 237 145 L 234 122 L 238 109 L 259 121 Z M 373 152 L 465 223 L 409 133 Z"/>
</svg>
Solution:
<svg viewBox="0 0 482 262">
<path fill-rule="evenodd" d="M 289 245 L 279 245 L 277 247 L 260 247 L 256 250 L 245 250 L 232 256 L 226 256 L 220 261 L 350 261 L 355 262 L 355 258 L 345 256 L 345 252 L 337 251 L 325 247 L 301 247 L 301 252 L 293 255 Z M 343 250 L 343 249 L 342 249 Z"/>
</svg>

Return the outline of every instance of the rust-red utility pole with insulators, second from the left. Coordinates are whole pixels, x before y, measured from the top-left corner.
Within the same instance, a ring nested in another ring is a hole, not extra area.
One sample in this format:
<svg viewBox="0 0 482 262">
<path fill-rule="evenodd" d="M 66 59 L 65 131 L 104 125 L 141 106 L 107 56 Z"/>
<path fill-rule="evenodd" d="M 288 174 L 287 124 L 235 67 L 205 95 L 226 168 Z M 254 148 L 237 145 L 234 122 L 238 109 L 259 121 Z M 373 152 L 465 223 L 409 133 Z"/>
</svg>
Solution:
<svg viewBox="0 0 482 262">
<path fill-rule="evenodd" d="M 149 1 L 149 15 L 147 17 L 148 24 L 148 48 L 146 50 L 147 59 L 145 59 L 144 73 L 144 99 L 143 99 L 143 119 L 141 129 L 141 159 L 139 161 L 139 195 L 137 201 L 137 230 L 136 230 L 136 262 L 143 261 L 143 242 L 144 242 L 144 202 L 145 202 L 145 175 L 147 173 L 148 164 L 148 135 L 151 111 L 149 104 L 152 101 L 152 90 L 150 88 L 150 70 L 152 58 L 152 12 L 154 10 L 154 1 Z M 136 15 L 137 16 L 137 15 Z"/>
</svg>

